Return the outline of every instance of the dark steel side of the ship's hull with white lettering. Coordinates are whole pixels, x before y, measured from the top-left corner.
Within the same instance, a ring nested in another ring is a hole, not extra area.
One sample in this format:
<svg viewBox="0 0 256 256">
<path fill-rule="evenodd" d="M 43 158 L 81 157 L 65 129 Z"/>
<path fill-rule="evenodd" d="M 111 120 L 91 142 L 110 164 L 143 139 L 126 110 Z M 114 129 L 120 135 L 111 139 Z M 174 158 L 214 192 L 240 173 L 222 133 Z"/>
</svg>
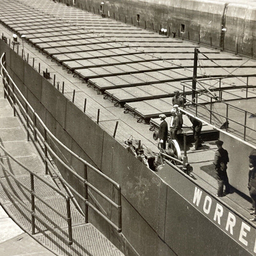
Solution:
<svg viewBox="0 0 256 256">
<path fill-rule="evenodd" d="M 89 221 L 126 256 L 252 255 L 249 253 L 253 252 L 255 242 L 252 226 L 246 224 L 251 232 L 247 234 L 245 246 L 239 240 L 243 222 L 239 217 L 234 214 L 238 224 L 233 235 L 225 231 L 224 220 L 221 224 L 213 220 L 214 207 L 221 206 L 221 202 L 203 192 L 197 206 L 193 201 L 195 184 L 187 177 L 165 166 L 160 178 L 0 40 L 0 52 L 4 51 L 8 71 L 49 130 L 76 154 L 121 184 L 122 234 L 113 231 L 92 211 L 89 211 Z M 84 166 L 65 150 L 58 149 L 83 176 Z M 59 171 L 79 193 L 84 193 L 83 184 L 72 174 L 63 167 Z M 110 198 L 116 198 L 109 183 L 91 170 L 88 172 L 91 183 Z M 116 218 L 115 210 L 108 203 L 94 194 L 92 196 L 104 206 L 106 214 Z M 79 199 L 77 201 L 83 209 L 84 204 Z M 226 221 L 229 210 L 225 207 L 223 210 Z"/>
</svg>

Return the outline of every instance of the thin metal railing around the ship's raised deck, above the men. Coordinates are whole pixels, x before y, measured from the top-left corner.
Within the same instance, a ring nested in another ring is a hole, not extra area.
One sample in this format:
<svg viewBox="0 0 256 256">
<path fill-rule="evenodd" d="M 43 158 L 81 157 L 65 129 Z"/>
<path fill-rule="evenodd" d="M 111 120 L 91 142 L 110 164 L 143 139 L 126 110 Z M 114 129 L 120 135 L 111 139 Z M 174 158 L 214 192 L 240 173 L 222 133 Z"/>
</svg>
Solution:
<svg viewBox="0 0 256 256">
<path fill-rule="evenodd" d="M 240 77 L 240 76 L 239 76 Z M 247 80 L 248 80 L 248 77 L 247 77 Z M 201 80 L 197 80 L 198 82 L 200 82 Z M 187 83 L 187 82 L 186 82 Z M 247 117 L 248 115 L 251 115 L 251 116 L 254 116 L 255 113 L 252 113 L 252 112 L 249 112 L 247 110 L 243 110 L 241 108 L 238 108 L 236 106 L 233 106 L 232 104 L 230 103 L 227 103 L 225 101 L 223 101 L 220 97 L 216 97 L 216 96 L 213 96 L 211 94 L 207 94 L 205 93 L 204 91 L 205 90 L 193 90 L 192 89 L 192 86 L 189 86 L 189 85 L 185 85 L 186 83 L 182 83 L 183 85 L 183 95 L 188 95 L 187 93 L 185 93 L 185 88 L 188 88 L 190 89 L 191 91 L 195 91 L 195 99 L 188 99 L 184 96 L 182 96 L 184 99 L 186 99 L 186 101 L 188 101 L 189 103 L 191 103 L 194 107 L 195 107 L 195 115 L 197 116 L 199 114 L 199 110 L 205 110 L 206 112 L 209 113 L 209 116 L 207 116 L 208 118 L 208 121 L 210 124 L 213 123 L 213 117 L 219 117 L 219 118 L 223 118 L 225 120 L 225 122 L 233 122 L 239 126 L 242 126 L 243 128 L 243 139 L 244 141 L 246 141 L 246 132 L 249 130 L 249 131 L 252 131 L 254 133 L 256 133 L 256 130 L 254 128 L 251 128 L 247 125 Z M 248 86 L 248 82 L 247 82 L 247 85 L 246 85 L 246 95 L 247 95 L 247 90 L 248 88 L 254 88 L 256 86 Z M 209 93 L 211 92 L 215 92 L 216 91 L 216 88 L 212 89 L 212 90 L 209 90 Z M 221 90 L 219 88 L 217 88 L 217 91 L 221 92 Z M 198 98 L 203 95 L 203 96 L 206 96 L 207 98 L 209 98 L 209 101 L 207 101 L 206 99 L 204 98 L 200 98 L 201 101 L 203 101 L 202 103 L 198 103 Z M 221 95 L 221 93 L 219 93 L 219 95 Z M 223 115 L 223 114 L 220 114 L 218 113 L 217 111 L 214 111 L 213 110 L 213 106 L 214 106 L 214 103 L 221 103 L 221 104 L 224 104 L 225 105 L 225 112 L 226 112 L 226 115 Z M 207 108 L 207 105 L 209 105 L 209 108 Z M 241 123 L 241 122 L 238 122 L 236 120 L 233 120 L 232 118 L 229 117 L 229 114 L 230 114 L 230 110 L 237 110 L 237 111 L 240 111 L 243 113 L 243 116 L 244 116 L 244 123 Z M 204 114 L 204 118 L 206 118 L 205 114 Z M 223 122 L 219 122 L 219 125 L 221 125 Z M 226 132 L 228 131 L 228 126 L 225 127 L 226 129 Z"/>
</svg>

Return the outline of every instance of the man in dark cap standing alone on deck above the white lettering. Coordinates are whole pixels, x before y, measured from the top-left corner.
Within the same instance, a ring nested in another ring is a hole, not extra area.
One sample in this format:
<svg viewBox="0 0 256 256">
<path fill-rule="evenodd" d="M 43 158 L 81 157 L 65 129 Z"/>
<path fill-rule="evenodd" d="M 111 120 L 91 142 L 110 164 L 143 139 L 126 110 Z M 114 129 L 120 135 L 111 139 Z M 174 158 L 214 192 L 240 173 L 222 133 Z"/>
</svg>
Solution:
<svg viewBox="0 0 256 256">
<path fill-rule="evenodd" d="M 215 152 L 213 164 L 215 165 L 215 170 L 218 180 L 218 194 L 216 196 L 223 196 L 223 185 L 226 189 L 225 194 L 230 193 L 229 178 L 227 175 L 227 164 L 229 162 L 229 154 L 226 149 L 222 147 L 223 141 L 217 140 L 215 144 L 218 146 L 218 150 Z"/>
</svg>

